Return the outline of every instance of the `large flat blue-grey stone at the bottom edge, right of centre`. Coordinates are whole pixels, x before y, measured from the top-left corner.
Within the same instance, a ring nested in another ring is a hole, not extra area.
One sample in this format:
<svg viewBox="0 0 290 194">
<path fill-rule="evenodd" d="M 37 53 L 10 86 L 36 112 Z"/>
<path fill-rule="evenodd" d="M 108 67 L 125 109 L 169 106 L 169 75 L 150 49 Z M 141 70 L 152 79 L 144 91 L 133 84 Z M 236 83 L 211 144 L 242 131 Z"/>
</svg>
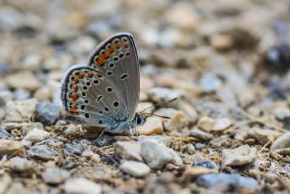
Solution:
<svg viewBox="0 0 290 194">
<path fill-rule="evenodd" d="M 258 182 L 256 179 L 242 177 L 239 174 L 205 174 L 199 176 L 195 181 L 199 186 L 205 188 L 215 188 L 218 191 L 230 191 L 233 189 L 247 188 L 257 189 Z M 222 189 L 222 190 L 219 190 Z"/>
</svg>

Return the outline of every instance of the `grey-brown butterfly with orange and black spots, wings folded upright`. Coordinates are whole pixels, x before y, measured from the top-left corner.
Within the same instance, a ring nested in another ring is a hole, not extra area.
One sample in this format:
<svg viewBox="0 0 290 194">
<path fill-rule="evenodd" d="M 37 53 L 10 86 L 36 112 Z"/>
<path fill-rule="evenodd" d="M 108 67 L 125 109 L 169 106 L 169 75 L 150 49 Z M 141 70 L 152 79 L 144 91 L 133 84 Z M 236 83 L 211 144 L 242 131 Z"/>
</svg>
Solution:
<svg viewBox="0 0 290 194">
<path fill-rule="evenodd" d="M 103 41 L 87 65 L 74 65 L 64 76 L 61 99 L 67 119 L 112 134 L 136 133 L 148 116 L 136 113 L 139 68 L 131 34 L 114 34 Z"/>
</svg>

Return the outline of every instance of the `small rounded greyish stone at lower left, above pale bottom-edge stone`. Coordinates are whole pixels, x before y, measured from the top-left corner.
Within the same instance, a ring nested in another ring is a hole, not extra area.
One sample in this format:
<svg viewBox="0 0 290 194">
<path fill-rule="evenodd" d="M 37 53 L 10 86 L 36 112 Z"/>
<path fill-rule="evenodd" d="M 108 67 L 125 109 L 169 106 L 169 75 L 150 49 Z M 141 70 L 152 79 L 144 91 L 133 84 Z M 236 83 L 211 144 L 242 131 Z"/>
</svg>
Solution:
<svg viewBox="0 0 290 194">
<path fill-rule="evenodd" d="M 43 172 L 44 182 L 52 185 L 63 183 L 69 177 L 70 173 L 68 171 L 58 168 L 50 168 Z"/>
</svg>

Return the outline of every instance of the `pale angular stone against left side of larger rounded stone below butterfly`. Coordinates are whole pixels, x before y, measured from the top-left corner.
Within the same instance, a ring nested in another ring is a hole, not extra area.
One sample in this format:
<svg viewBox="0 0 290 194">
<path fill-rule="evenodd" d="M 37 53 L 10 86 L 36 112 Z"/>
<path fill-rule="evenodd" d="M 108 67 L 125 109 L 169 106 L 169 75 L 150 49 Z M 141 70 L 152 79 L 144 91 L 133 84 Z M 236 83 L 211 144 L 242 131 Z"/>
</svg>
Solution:
<svg viewBox="0 0 290 194">
<path fill-rule="evenodd" d="M 118 141 L 115 144 L 115 152 L 121 159 L 143 161 L 141 155 L 140 142 Z"/>
</svg>

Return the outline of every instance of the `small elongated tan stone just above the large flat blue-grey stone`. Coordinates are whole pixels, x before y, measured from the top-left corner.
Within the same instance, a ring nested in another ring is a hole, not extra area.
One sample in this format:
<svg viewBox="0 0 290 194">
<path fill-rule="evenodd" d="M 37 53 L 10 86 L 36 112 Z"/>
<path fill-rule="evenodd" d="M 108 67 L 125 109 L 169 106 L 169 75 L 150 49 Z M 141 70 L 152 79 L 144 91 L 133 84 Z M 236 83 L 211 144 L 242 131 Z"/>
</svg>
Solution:
<svg viewBox="0 0 290 194">
<path fill-rule="evenodd" d="M 204 167 L 188 167 L 182 176 L 182 179 L 193 179 L 202 174 L 218 173 L 218 169 L 208 169 Z"/>
</svg>

